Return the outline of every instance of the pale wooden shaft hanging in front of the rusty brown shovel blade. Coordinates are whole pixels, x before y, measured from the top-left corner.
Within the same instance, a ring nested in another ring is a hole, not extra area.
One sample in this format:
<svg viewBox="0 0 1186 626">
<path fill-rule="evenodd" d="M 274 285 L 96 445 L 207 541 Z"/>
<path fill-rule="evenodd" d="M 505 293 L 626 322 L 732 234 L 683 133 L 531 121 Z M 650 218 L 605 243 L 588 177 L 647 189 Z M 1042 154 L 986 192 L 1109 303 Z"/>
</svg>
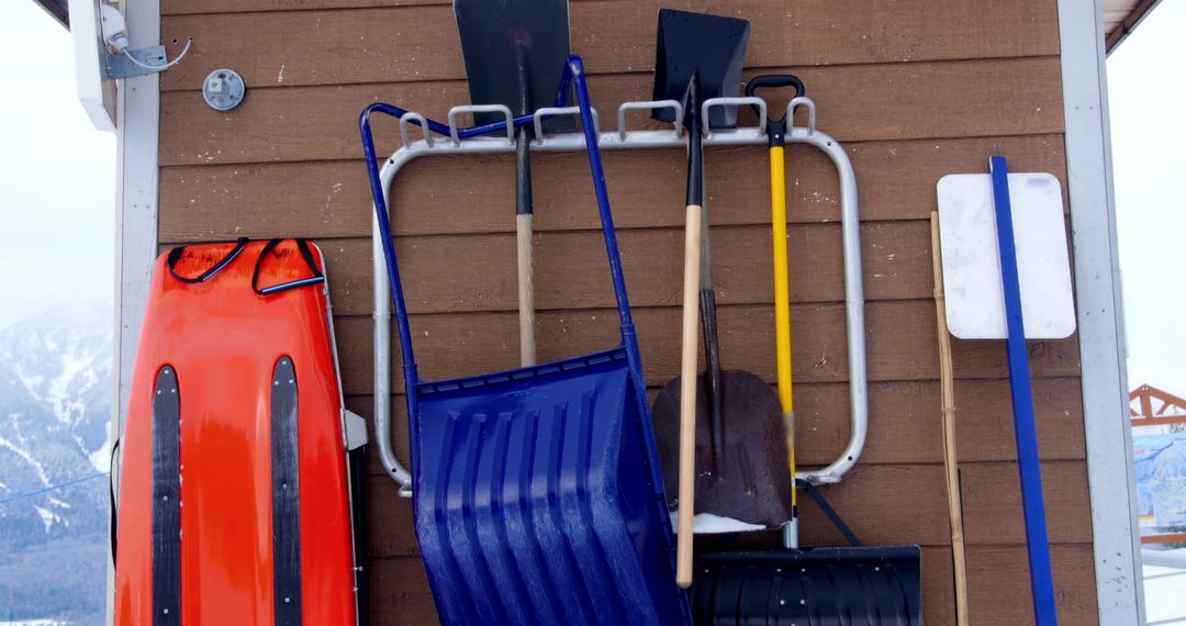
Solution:
<svg viewBox="0 0 1186 626">
<path fill-rule="evenodd" d="M 680 356 L 680 519 L 675 582 L 691 586 L 693 517 L 696 515 L 696 347 L 700 330 L 700 235 L 703 207 L 688 205 L 683 239 L 683 346 Z"/>
</svg>

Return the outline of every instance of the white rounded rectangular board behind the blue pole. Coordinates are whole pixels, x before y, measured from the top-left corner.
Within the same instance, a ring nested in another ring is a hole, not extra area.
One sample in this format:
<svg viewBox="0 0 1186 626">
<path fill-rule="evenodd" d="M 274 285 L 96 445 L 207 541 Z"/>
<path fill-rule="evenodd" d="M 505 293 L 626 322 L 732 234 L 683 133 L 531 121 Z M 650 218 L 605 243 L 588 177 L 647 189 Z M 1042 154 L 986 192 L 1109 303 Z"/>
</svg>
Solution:
<svg viewBox="0 0 1186 626">
<path fill-rule="evenodd" d="M 1006 339 L 993 180 L 948 174 L 938 197 L 948 327 L 959 339 Z M 1061 186 L 1048 173 L 1010 173 L 1009 202 L 1026 338 L 1070 337 L 1075 300 Z"/>
</svg>

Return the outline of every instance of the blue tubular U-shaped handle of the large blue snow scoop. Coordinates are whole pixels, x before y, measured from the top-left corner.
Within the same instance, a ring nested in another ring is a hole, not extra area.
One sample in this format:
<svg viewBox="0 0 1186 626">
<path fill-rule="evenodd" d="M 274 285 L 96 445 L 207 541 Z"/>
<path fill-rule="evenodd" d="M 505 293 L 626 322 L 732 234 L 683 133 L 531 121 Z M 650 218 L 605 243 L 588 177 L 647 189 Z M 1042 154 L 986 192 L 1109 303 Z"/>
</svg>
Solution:
<svg viewBox="0 0 1186 626">
<path fill-rule="evenodd" d="M 635 327 L 630 317 L 630 302 L 626 298 L 626 282 L 621 272 L 621 258 L 618 254 L 618 241 L 613 232 L 613 217 L 610 212 L 610 194 L 605 186 L 605 172 L 601 167 L 601 154 L 598 149 L 598 134 L 593 123 L 593 109 L 589 104 L 588 88 L 585 84 L 585 68 L 579 56 L 570 56 L 561 75 L 560 84 L 556 89 L 555 104 L 560 107 L 565 102 L 565 95 L 570 87 L 575 87 L 576 100 L 581 111 L 581 126 L 585 130 L 586 149 L 589 155 L 589 168 L 593 174 L 593 189 L 597 193 L 598 209 L 601 213 L 601 229 L 605 235 L 606 254 L 610 258 L 610 273 L 613 277 L 613 289 L 618 301 L 618 315 L 621 321 L 623 343 L 631 353 L 632 360 L 637 364 L 638 345 L 635 337 Z M 412 346 L 412 331 L 408 324 L 408 311 L 403 299 L 403 286 L 400 280 L 400 269 L 395 258 L 395 244 L 391 239 L 391 223 L 388 216 L 387 197 L 383 193 L 383 183 L 380 175 L 378 156 L 375 152 L 375 139 L 371 133 L 370 116 L 372 113 L 383 113 L 394 117 L 402 117 L 408 111 L 400 107 L 377 102 L 368 106 L 359 115 L 359 134 L 362 135 L 363 154 L 366 160 L 366 172 L 370 174 L 371 197 L 375 200 L 375 217 L 378 222 L 380 234 L 383 239 L 383 256 L 387 262 L 387 273 L 391 282 L 391 298 L 395 306 L 396 325 L 400 330 L 400 350 L 403 360 L 404 384 L 409 392 L 412 388 L 420 383 L 416 373 L 416 360 Z M 531 123 L 534 114 L 528 113 L 515 117 L 512 123 L 518 127 Z M 415 122 L 419 124 L 419 122 Z M 446 124 L 433 120 L 426 120 L 428 129 L 448 135 L 449 128 Z M 458 129 L 461 139 L 478 135 L 498 133 L 506 129 L 506 121 Z"/>
</svg>

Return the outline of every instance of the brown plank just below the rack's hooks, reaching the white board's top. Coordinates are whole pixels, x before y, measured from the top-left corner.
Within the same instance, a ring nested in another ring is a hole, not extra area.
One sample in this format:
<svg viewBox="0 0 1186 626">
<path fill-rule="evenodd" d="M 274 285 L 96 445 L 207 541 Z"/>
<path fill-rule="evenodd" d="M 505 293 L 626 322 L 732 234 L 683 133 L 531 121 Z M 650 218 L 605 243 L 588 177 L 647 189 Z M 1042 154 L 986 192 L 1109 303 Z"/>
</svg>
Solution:
<svg viewBox="0 0 1186 626">
<path fill-rule="evenodd" d="M 846 146 L 856 173 L 862 221 L 927 219 L 935 185 L 954 172 L 986 171 L 986 155 L 1009 154 L 1018 172 L 1066 178 L 1059 135 L 935 141 L 868 141 Z M 533 155 L 534 228 L 600 228 L 586 156 Z M 605 152 L 602 159 L 618 229 L 683 225 L 686 168 L 678 151 Z M 514 232 L 510 156 L 438 156 L 400 172 L 391 198 L 398 235 Z M 770 223 L 766 151 L 708 151 L 709 213 L 714 225 Z M 465 185 L 444 185 L 461 178 Z M 831 161 L 815 148 L 786 151 L 788 219 L 840 218 Z M 474 202 L 479 193 L 485 202 Z M 370 237 L 370 181 L 362 160 L 161 168 L 160 241 L 236 237 Z"/>
</svg>

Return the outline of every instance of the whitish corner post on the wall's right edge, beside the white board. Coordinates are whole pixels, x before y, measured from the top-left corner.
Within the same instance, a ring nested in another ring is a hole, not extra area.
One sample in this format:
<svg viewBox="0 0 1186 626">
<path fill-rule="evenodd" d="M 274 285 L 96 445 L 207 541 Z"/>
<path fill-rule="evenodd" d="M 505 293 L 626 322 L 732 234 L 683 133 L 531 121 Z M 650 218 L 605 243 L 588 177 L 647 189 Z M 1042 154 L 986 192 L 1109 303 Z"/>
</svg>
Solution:
<svg viewBox="0 0 1186 626">
<path fill-rule="evenodd" d="M 1133 516 L 1103 1 L 1058 0 L 1058 23 L 1097 608 L 1102 625 L 1131 626 L 1144 624 L 1144 594 Z"/>
</svg>

